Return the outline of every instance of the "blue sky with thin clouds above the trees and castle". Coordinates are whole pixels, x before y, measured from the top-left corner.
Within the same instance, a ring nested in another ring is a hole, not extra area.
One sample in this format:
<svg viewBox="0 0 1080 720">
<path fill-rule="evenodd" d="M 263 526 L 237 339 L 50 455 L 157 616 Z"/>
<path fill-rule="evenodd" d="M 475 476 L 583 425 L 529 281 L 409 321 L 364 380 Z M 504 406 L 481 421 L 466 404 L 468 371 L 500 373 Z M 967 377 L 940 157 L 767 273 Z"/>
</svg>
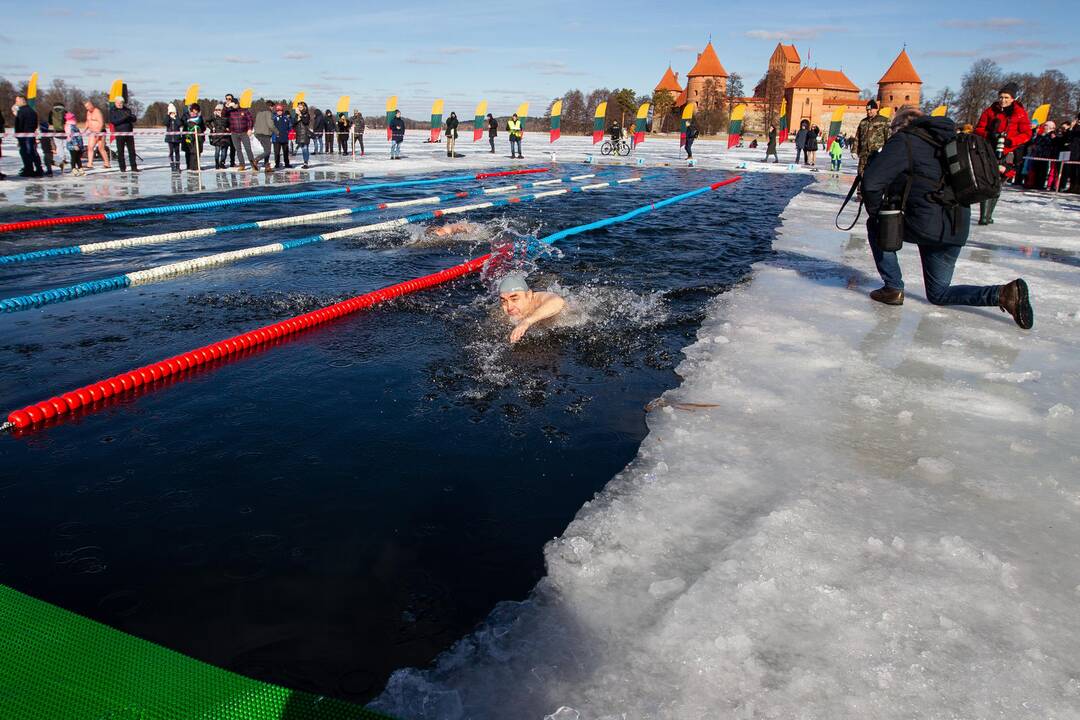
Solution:
<svg viewBox="0 0 1080 720">
<path fill-rule="evenodd" d="M 435 97 L 446 99 L 447 113 L 462 117 L 480 99 L 496 112 L 529 100 L 530 114 L 540 114 L 571 87 L 651 92 L 669 63 L 683 79 L 712 36 L 720 62 L 744 77 L 747 91 L 778 40 L 794 42 L 815 66 L 842 69 L 862 87 L 876 86 L 904 43 L 929 95 L 957 87 L 976 57 L 997 59 L 1007 70 L 1055 67 L 1080 78 L 1074 3 L 917 0 L 813 14 L 809 4 L 760 6 L 715 0 L 0 0 L 0 74 L 21 80 L 37 70 L 46 85 L 63 78 L 84 89 L 123 77 L 143 100 L 179 97 L 199 82 L 201 94 L 213 97 L 244 87 L 275 97 L 303 90 L 315 106 L 348 94 L 369 114 L 381 113 L 390 94 L 414 117 L 426 114 Z"/>
</svg>

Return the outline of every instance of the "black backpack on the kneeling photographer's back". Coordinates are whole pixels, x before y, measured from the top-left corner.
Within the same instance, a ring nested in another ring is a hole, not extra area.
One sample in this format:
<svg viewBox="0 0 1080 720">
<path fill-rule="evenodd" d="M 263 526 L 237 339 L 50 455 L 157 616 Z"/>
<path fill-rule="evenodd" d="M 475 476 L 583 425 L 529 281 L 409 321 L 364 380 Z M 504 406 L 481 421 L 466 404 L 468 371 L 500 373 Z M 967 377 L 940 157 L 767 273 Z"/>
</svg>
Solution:
<svg viewBox="0 0 1080 720">
<path fill-rule="evenodd" d="M 974 205 L 1001 194 L 998 157 L 978 135 L 962 133 L 942 142 L 921 127 L 905 132 L 929 142 L 942 162 L 942 181 L 930 200 L 944 205 Z"/>
</svg>

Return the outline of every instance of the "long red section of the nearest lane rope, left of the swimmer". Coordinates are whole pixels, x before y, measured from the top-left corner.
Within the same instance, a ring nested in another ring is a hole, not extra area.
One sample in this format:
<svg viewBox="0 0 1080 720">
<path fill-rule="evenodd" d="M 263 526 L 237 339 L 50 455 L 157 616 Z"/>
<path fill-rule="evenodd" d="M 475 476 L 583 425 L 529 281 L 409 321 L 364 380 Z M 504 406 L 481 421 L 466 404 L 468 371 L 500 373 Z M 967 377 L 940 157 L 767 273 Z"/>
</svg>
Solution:
<svg viewBox="0 0 1080 720">
<path fill-rule="evenodd" d="M 179 355 L 173 355 L 158 363 L 121 372 L 98 382 L 50 397 L 48 400 L 27 405 L 19 410 L 13 410 L 8 416 L 10 426 L 16 430 L 28 430 L 45 422 L 55 422 L 75 413 L 76 410 L 94 411 L 104 407 L 104 400 L 119 396 L 130 391 L 149 385 L 159 380 L 178 377 L 186 370 L 197 368 L 207 363 L 235 356 L 253 348 L 278 342 L 289 336 L 328 323 L 332 320 L 351 315 L 372 305 L 403 295 L 409 295 L 435 285 L 447 283 L 471 272 L 475 272 L 490 260 L 491 253 L 473 258 L 468 262 L 440 270 L 436 273 L 408 280 L 404 283 L 390 285 L 379 290 L 357 295 L 349 300 L 342 300 L 321 310 L 314 310 L 296 317 L 283 320 L 271 325 L 265 325 L 255 330 L 235 335 L 226 340 L 197 348 Z"/>
</svg>

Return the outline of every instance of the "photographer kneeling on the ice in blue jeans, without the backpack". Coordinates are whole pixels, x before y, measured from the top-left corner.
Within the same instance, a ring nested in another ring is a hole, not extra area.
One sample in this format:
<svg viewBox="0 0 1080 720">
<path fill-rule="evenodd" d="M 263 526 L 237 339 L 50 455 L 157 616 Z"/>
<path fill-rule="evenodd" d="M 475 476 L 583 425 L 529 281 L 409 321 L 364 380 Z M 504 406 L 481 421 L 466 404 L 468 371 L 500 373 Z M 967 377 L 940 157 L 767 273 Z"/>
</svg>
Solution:
<svg viewBox="0 0 1080 720">
<path fill-rule="evenodd" d="M 885 283 L 870 298 L 890 305 L 904 303 L 904 280 L 895 253 L 902 239 L 919 246 L 930 302 L 997 305 L 1029 329 L 1034 313 L 1023 280 L 1007 285 L 949 285 L 971 225 L 970 207 L 940 202 L 943 189 L 947 190 L 944 146 L 956 137 L 956 125 L 948 118 L 929 118 L 907 108 L 896 113 L 891 130 L 892 137 L 867 164 L 862 179 L 870 250 Z"/>
</svg>

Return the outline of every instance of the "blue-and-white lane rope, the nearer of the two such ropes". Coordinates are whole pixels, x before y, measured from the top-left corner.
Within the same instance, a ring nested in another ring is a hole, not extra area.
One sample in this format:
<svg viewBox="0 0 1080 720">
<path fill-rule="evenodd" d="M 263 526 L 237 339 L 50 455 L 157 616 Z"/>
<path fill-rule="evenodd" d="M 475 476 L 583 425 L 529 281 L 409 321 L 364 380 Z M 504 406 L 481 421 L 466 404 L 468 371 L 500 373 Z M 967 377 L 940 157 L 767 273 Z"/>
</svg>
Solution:
<svg viewBox="0 0 1080 720">
<path fill-rule="evenodd" d="M 612 188 L 612 187 L 618 187 L 620 185 L 639 182 L 642 181 L 642 179 L 643 178 L 639 177 L 631 177 L 621 180 L 612 180 L 610 182 L 596 182 L 593 185 L 582 185 L 572 188 L 562 188 L 559 190 L 548 190 L 546 192 L 535 192 L 535 193 L 518 195 L 516 198 L 509 198 L 505 200 L 492 200 L 484 203 L 473 203 L 471 205 L 459 205 L 457 207 L 448 207 L 445 210 L 428 210 L 426 213 L 417 213 L 415 215 L 407 215 L 405 217 L 394 218 L 392 220 L 383 220 L 382 222 L 375 222 L 372 225 L 360 226 L 357 228 L 338 230 L 337 232 L 329 232 L 321 235 L 309 235 L 307 237 L 297 237 L 295 240 L 287 240 L 281 243 L 271 243 L 269 245 L 257 245 L 255 247 L 244 247 L 237 250 L 229 250 L 227 253 L 216 253 L 214 255 L 205 255 L 203 257 L 193 258 L 191 260 L 171 262 L 168 264 L 157 266 L 154 268 L 148 268 L 146 270 L 137 270 L 135 272 L 130 272 L 123 275 L 113 275 L 111 277 L 104 277 L 100 280 L 92 280 L 83 283 L 77 283 L 75 285 L 68 285 L 66 287 L 40 290 L 38 293 L 30 293 L 28 295 L 19 295 L 13 298 L 6 298 L 0 300 L 0 312 L 17 312 L 22 310 L 30 310 L 32 308 L 40 308 L 42 305 L 54 304 L 57 302 L 67 302 L 68 300 L 75 300 L 77 298 L 81 298 L 87 295 L 99 295 L 102 293 L 120 290 L 125 287 L 132 287 L 135 285 L 145 285 L 147 283 L 152 283 L 160 280 L 165 280 L 167 277 L 173 277 L 175 275 L 198 272 L 200 270 L 206 270 L 208 268 L 216 268 L 224 264 L 229 264 L 231 262 L 237 262 L 239 260 L 245 260 L 247 258 L 254 258 L 261 255 L 270 255 L 273 253 L 283 253 L 285 250 L 296 249 L 297 247 L 303 247 L 305 245 L 312 245 L 314 243 L 320 243 L 327 240 L 355 237 L 357 235 L 366 234 L 369 232 L 377 232 L 379 230 L 390 230 L 392 228 L 400 228 L 402 226 L 409 225 L 413 222 L 432 220 L 446 215 L 460 215 L 471 210 L 485 209 L 488 207 L 502 207 L 505 205 L 531 202 L 535 200 L 543 200 L 544 198 L 554 198 L 556 195 L 565 195 L 573 192 L 589 192 L 592 190 L 602 190 L 604 188 Z"/>
</svg>

